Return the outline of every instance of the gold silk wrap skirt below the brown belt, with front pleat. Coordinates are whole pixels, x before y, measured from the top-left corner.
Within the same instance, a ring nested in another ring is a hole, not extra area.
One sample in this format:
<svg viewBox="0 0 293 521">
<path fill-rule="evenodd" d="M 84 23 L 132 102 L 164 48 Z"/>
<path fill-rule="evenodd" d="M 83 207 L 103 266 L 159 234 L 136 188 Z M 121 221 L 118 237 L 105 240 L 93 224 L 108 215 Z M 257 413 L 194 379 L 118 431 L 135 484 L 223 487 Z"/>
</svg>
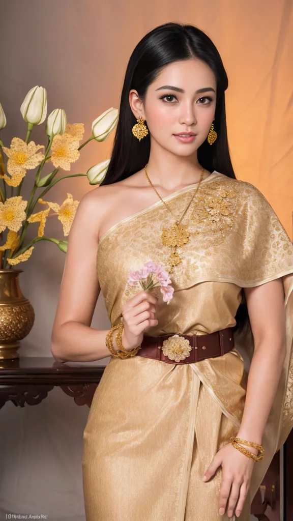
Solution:
<svg viewBox="0 0 293 521">
<path fill-rule="evenodd" d="M 221 467 L 202 477 L 237 430 L 190 364 L 111 358 L 83 435 L 87 521 L 227 521 L 218 514 Z"/>
</svg>

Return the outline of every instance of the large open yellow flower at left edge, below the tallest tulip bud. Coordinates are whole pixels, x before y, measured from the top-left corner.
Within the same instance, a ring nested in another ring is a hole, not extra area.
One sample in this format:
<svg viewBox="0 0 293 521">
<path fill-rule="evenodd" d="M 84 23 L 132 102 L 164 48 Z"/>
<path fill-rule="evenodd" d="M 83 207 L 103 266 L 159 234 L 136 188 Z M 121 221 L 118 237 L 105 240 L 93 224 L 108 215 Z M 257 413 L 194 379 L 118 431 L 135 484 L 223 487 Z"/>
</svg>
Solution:
<svg viewBox="0 0 293 521">
<path fill-rule="evenodd" d="M 34 141 L 26 143 L 20 138 L 13 138 L 11 141 L 10 148 L 3 147 L 5 154 L 9 157 L 7 162 L 7 172 L 10 173 L 13 179 L 8 176 L 7 181 L 11 186 L 17 186 L 21 179 L 25 177 L 27 170 L 31 170 L 38 166 L 44 159 L 42 152 L 36 153 L 40 148 L 44 148 L 43 145 L 36 145 Z M 6 178 L 5 178 L 6 180 Z M 14 181 L 14 182 L 13 182 Z"/>
</svg>

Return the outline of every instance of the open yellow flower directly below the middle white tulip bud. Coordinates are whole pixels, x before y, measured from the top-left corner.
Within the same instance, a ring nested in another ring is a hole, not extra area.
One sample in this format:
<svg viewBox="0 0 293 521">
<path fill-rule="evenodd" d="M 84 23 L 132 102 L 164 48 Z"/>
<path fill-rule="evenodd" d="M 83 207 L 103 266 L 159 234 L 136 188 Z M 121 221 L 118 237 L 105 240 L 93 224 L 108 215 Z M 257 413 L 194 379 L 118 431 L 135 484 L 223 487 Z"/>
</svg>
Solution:
<svg viewBox="0 0 293 521">
<path fill-rule="evenodd" d="M 70 163 L 79 158 L 79 141 L 72 139 L 70 134 L 57 134 L 54 136 L 51 146 L 51 161 L 55 168 L 70 170 Z"/>
</svg>

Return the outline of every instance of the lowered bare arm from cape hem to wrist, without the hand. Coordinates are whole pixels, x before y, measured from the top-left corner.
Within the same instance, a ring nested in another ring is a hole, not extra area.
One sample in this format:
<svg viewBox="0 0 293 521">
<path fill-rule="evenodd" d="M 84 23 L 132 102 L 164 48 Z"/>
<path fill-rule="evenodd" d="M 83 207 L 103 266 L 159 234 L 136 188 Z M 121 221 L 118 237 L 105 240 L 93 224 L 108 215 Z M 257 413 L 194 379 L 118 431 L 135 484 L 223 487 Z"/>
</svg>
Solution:
<svg viewBox="0 0 293 521">
<path fill-rule="evenodd" d="M 280 277 L 244 290 L 254 338 L 254 354 L 237 437 L 261 444 L 286 356 L 283 280 Z M 258 453 L 251 447 L 246 446 L 246 449 Z"/>
</svg>

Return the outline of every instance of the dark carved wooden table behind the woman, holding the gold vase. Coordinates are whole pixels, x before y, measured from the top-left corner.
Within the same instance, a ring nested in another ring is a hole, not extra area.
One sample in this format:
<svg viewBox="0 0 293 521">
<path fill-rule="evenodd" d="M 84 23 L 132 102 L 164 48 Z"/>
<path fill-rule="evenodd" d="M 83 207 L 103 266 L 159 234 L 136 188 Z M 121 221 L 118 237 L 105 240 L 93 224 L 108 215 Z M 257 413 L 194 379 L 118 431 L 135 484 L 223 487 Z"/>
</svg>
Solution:
<svg viewBox="0 0 293 521">
<path fill-rule="evenodd" d="M 72 396 L 77 405 L 91 406 L 105 365 L 93 362 L 56 362 L 53 357 L 20 357 L 0 361 L 0 408 L 6 402 L 24 407 L 36 405 L 46 398 L 55 386 Z M 293 431 L 284 445 L 284 521 L 293 521 Z M 268 520 L 266 508 L 270 506 L 274 521 L 280 520 L 280 456 L 277 452 L 265 475 L 261 489 L 255 495 L 251 513 L 259 521 Z M 263 499 L 264 495 L 264 499 Z"/>
</svg>

